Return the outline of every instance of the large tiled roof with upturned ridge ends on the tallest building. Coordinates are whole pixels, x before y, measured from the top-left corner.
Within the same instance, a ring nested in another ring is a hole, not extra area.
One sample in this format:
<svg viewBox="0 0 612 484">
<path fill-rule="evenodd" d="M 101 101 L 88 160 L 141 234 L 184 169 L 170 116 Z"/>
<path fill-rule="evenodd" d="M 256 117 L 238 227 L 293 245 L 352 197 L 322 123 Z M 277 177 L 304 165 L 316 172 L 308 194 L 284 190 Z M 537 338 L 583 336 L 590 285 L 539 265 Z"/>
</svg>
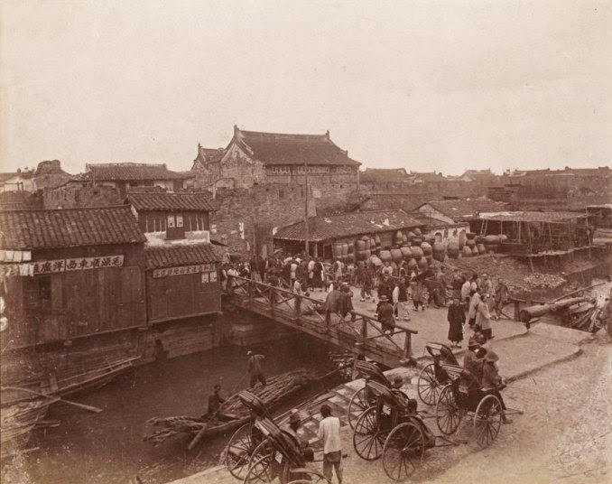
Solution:
<svg viewBox="0 0 612 484">
<path fill-rule="evenodd" d="M 264 164 L 351 165 L 361 163 L 348 157 L 325 135 L 281 135 L 243 131 L 235 127 L 234 140 Z"/>
</svg>

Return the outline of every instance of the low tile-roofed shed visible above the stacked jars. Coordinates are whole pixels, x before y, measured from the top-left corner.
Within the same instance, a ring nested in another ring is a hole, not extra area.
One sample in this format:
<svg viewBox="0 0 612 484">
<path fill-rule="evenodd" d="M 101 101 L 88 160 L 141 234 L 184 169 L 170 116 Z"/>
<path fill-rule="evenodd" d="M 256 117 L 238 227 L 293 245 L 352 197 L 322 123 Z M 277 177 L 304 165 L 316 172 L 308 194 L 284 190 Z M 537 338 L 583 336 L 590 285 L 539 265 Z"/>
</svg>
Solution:
<svg viewBox="0 0 612 484">
<path fill-rule="evenodd" d="M 424 223 L 413 219 L 403 210 L 377 210 L 354 212 L 330 217 L 308 219 L 308 233 L 304 222 L 279 228 L 274 234 L 274 247 L 283 247 L 290 254 L 304 250 L 306 237 L 310 253 L 325 260 L 334 258 L 332 246 L 348 243 L 352 246 L 358 238 L 372 236 L 380 238 L 383 248 L 394 246 L 394 235 L 398 230 L 424 228 Z"/>
</svg>

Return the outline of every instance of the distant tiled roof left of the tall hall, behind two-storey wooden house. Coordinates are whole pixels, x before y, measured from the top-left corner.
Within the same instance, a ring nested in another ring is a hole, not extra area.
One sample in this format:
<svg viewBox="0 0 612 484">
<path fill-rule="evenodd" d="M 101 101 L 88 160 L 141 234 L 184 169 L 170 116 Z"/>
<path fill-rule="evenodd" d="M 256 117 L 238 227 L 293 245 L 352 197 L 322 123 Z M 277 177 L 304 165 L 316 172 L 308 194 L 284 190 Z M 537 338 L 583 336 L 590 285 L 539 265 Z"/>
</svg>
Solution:
<svg viewBox="0 0 612 484">
<path fill-rule="evenodd" d="M 193 174 L 172 172 L 165 163 L 88 163 L 85 178 L 97 181 L 114 180 L 184 180 Z"/>
</svg>

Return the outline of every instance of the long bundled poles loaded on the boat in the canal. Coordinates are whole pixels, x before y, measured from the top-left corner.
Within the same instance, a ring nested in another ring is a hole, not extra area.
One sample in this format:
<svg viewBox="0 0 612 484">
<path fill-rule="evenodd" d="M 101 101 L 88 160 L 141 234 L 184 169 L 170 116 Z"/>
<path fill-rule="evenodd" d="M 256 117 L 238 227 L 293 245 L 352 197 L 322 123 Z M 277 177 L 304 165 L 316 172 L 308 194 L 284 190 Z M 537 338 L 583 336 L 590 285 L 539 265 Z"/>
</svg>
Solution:
<svg viewBox="0 0 612 484">
<path fill-rule="evenodd" d="M 266 386 L 258 384 L 250 391 L 264 402 L 268 410 L 271 410 L 283 403 L 283 400 L 286 400 L 287 397 L 308 386 L 312 379 L 313 377 L 306 370 L 295 370 L 270 377 Z M 206 434 L 213 435 L 246 423 L 250 418 L 250 413 L 242 405 L 237 395 L 236 393 L 229 396 L 218 412 L 221 415 L 231 415 L 229 420 L 186 415 L 153 417 L 145 423 L 143 440 L 158 445 L 180 433 L 200 433 L 206 427 Z"/>
</svg>

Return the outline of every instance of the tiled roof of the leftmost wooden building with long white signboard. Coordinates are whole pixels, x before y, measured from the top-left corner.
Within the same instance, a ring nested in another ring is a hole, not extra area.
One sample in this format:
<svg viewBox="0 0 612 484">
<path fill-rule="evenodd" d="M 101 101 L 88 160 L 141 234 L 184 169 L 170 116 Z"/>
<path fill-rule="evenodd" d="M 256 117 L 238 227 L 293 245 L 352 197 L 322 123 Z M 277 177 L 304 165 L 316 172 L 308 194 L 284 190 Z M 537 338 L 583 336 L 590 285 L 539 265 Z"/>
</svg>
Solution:
<svg viewBox="0 0 612 484">
<path fill-rule="evenodd" d="M 134 244 L 144 234 L 128 206 L 0 212 L 0 248 L 28 250 Z"/>
</svg>

